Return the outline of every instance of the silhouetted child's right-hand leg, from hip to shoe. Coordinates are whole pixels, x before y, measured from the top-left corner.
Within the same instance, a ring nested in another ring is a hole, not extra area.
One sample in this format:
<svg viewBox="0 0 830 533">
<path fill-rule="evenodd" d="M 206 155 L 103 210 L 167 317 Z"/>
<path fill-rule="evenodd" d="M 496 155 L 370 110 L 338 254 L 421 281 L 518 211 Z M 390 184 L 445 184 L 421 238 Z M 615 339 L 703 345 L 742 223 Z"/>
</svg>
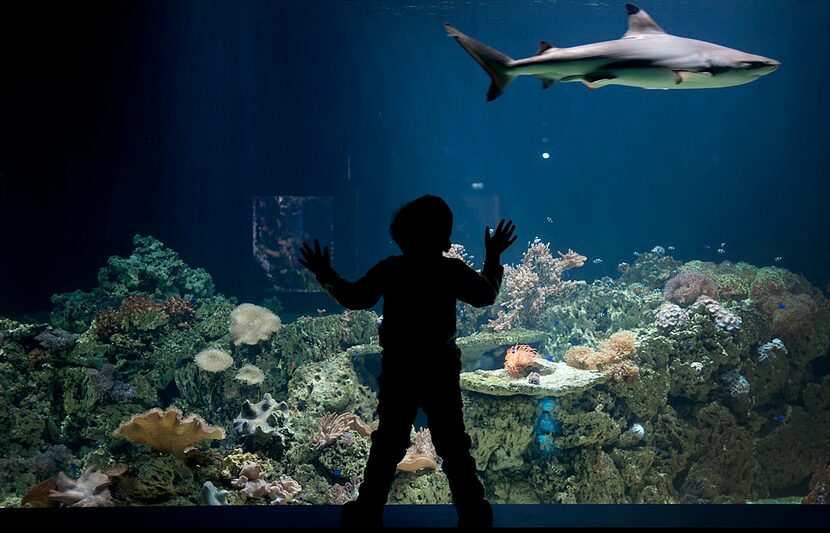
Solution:
<svg viewBox="0 0 830 533">
<path fill-rule="evenodd" d="M 459 526 L 491 527 L 492 509 L 476 475 L 475 460 L 470 455 L 472 441 L 464 428 L 458 374 L 448 372 L 431 383 L 423 407 L 435 452 L 443 459 L 442 468 L 450 482 Z"/>
</svg>

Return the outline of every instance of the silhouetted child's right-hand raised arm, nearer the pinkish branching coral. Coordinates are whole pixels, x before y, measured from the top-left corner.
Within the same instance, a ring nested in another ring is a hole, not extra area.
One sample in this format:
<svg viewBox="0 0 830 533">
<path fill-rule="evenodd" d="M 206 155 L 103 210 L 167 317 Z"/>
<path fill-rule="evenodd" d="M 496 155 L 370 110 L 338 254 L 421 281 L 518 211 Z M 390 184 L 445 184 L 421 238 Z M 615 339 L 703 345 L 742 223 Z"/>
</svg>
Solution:
<svg viewBox="0 0 830 533">
<path fill-rule="evenodd" d="M 466 267 L 463 276 L 458 280 L 458 299 L 467 302 L 474 307 L 492 305 L 501 288 L 504 267 L 501 266 L 501 254 L 511 244 L 516 242 L 518 236 L 513 235 L 516 226 L 510 220 L 506 224 L 504 219 L 490 234 L 490 227 L 484 230 L 484 247 L 486 254 L 484 266 L 479 274 L 475 270 Z"/>
</svg>

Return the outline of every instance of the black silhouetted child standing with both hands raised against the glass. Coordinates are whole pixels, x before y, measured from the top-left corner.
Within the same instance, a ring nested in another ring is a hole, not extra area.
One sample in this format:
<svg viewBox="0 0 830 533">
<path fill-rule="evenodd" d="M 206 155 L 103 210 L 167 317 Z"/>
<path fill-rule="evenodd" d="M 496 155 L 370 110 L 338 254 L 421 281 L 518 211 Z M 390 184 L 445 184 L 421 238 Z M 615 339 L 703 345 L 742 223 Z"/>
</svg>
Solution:
<svg viewBox="0 0 830 533">
<path fill-rule="evenodd" d="M 403 255 L 383 259 L 355 283 L 331 267 L 328 247 L 303 244 L 300 263 L 340 305 L 368 309 L 383 297 L 378 327 L 383 347 L 378 378 L 380 424 L 355 502 L 343 507 L 341 525 L 379 526 L 397 464 L 410 445 L 418 408 L 423 409 L 443 470 L 452 490 L 459 526 L 488 527 L 493 511 L 484 498 L 465 433 L 459 373 L 461 351 L 455 344 L 456 300 L 475 307 L 491 305 L 501 286 L 500 256 L 517 237 L 512 221 L 486 228 L 487 250 L 481 273 L 460 259 L 444 257 L 450 249 L 452 211 L 437 196 L 422 196 L 404 205 L 390 226 Z M 511 238 L 512 237 L 512 238 Z"/>
</svg>

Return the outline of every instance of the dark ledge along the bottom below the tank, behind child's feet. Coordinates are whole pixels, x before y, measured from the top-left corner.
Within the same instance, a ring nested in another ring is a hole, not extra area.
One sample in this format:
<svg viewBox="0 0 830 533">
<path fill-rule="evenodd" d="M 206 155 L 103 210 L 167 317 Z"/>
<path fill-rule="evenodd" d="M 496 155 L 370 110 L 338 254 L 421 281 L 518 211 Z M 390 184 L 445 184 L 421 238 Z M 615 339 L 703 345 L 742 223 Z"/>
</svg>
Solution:
<svg viewBox="0 0 830 533">
<path fill-rule="evenodd" d="M 824 527 L 826 505 L 494 505 L 496 527 Z M 0 518 L 39 527 L 337 527 L 340 507 L 109 507 L 2 509 Z M 387 527 L 455 527 L 449 505 L 386 507 Z"/>
</svg>

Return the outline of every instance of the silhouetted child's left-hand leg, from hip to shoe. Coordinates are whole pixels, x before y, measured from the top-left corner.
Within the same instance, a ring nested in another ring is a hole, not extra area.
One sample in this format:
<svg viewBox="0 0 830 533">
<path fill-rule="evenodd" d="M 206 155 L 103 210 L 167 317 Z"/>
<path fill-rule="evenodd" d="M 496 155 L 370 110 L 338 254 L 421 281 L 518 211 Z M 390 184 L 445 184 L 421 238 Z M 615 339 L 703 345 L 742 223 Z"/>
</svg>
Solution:
<svg viewBox="0 0 830 533">
<path fill-rule="evenodd" d="M 363 471 L 363 482 L 354 505 L 343 508 L 344 525 L 347 514 L 358 514 L 379 525 L 383 506 L 395 479 L 398 463 L 406 455 L 412 423 L 418 413 L 417 394 L 411 388 L 411 376 L 398 377 L 388 372 L 378 378 L 378 428 L 372 432 L 372 448 Z M 365 526 L 366 522 L 359 524 Z"/>
</svg>

